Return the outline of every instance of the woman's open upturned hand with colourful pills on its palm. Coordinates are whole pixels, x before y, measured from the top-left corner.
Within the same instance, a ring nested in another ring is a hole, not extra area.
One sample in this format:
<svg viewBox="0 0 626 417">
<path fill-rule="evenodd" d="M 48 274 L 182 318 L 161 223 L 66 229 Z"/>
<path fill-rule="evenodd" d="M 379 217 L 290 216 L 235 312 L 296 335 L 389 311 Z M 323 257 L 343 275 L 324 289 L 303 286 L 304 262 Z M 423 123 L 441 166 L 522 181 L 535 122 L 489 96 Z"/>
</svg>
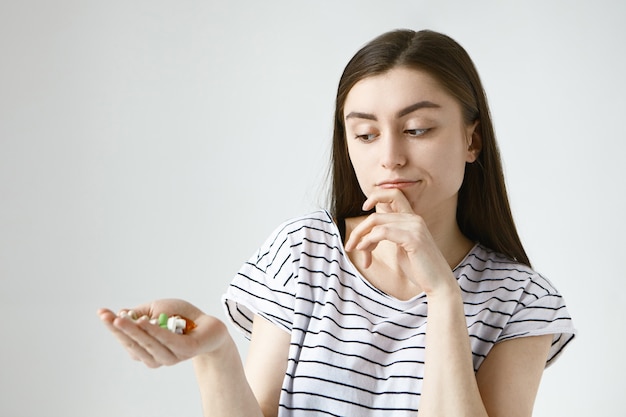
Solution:
<svg viewBox="0 0 626 417">
<path fill-rule="evenodd" d="M 131 358 L 150 368 L 174 365 L 201 354 L 210 354 L 223 346 L 229 337 L 222 321 L 183 300 L 158 300 L 132 310 L 137 320 L 120 317 L 106 308 L 99 309 L 98 316 Z M 149 319 L 158 318 L 161 313 L 186 317 L 197 327 L 181 335 L 151 324 Z"/>
</svg>

